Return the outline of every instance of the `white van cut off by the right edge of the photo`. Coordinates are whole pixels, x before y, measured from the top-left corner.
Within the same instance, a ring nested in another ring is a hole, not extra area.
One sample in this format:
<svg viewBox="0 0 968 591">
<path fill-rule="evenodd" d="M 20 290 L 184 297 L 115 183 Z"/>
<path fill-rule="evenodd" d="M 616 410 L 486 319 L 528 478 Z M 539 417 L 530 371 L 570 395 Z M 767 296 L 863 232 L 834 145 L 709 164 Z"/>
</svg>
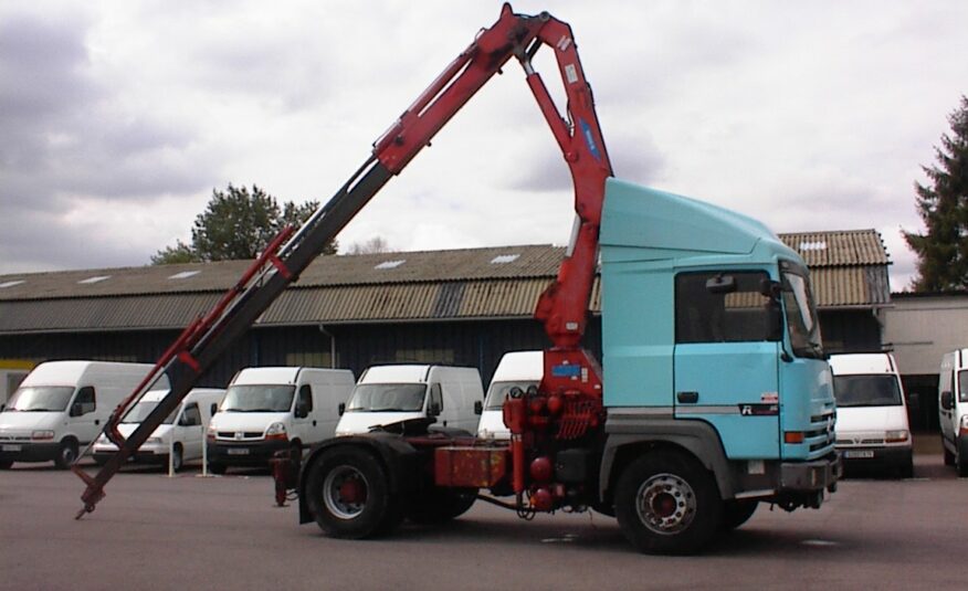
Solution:
<svg viewBox="0 0 968 591">
<path fill-rule="evenodd" d="M 945 465 L 954 465 L 958 476 L 968 476 L 968 349 L 941 358 L 938 420 Z"/>
</svg>

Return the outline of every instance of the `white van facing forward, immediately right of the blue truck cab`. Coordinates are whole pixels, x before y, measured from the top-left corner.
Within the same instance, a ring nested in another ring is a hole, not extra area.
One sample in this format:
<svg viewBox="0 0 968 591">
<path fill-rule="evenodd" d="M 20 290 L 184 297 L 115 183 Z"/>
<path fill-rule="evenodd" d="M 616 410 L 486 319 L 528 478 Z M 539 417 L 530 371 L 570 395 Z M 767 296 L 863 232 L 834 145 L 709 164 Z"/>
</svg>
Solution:
<svg viewBox="0 0 968 591">
<path fill-rule="evenodd" d="M 891 353 L 830 356 L 837 398 L 837 450 L 844 464 L 914 474 L 907 405 Z"/>
</svg>

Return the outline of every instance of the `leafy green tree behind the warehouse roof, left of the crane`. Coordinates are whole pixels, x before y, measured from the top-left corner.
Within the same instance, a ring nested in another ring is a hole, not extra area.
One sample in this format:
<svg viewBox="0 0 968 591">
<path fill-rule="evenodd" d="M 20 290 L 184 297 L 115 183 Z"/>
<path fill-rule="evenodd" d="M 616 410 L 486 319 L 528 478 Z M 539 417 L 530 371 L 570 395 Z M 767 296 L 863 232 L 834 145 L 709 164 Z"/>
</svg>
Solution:
<svg viewBox="0 0 968 591">
<path fill-rule="evenodd" d="M 256 186 L 252 191 L 231 183 L 225 191 L 212 190 L 206 211 L 194 219 L 191 244 L 180 240 L 151 256 L 156 265 L 255 258 L 286 224 L 302 225 L 319 207 L 318 201 L 278 207 L 276 199 Z M 322 254 L 336 254 L 335 240 Z"/>
</svg>

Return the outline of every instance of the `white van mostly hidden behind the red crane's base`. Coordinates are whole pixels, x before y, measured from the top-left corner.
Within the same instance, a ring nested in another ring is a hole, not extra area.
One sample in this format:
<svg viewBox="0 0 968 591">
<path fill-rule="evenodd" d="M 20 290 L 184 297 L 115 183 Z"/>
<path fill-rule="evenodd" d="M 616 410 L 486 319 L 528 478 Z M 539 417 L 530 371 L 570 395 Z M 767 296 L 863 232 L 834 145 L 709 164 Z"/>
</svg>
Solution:
<svg viewBox="0 0 968 591">
<path fill-rule="evenodd" d="M 527 391 L 538 387 L 545 371 L 544 351 L 511 351 L 504 353 L 491 378 L 484 412 L 477 424 L 481 439 L 511 439 L 511 431 L 504 424 L 504 401 L 512 388 Z"/>
</svg>

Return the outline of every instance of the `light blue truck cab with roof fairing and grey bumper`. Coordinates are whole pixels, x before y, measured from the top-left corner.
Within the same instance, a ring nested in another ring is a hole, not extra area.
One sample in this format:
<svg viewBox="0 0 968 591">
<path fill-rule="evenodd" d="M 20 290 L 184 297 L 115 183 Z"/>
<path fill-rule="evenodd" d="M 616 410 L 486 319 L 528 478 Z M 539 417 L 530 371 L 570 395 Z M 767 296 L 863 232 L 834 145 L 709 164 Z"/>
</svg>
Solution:
<svg viewBox="0 0 968 591">
<path fill-rule="evenodd" d="M 714 520 L 726 527 L 761 500 L 819 507 L 840 463 L 832 376 L 800 256 L 756 220 L 617 179 L 600 243 L 602 498 L 618 510 L 629 464 L 672 452 L 713 475 L 723 500 Z"/>
</svg>

